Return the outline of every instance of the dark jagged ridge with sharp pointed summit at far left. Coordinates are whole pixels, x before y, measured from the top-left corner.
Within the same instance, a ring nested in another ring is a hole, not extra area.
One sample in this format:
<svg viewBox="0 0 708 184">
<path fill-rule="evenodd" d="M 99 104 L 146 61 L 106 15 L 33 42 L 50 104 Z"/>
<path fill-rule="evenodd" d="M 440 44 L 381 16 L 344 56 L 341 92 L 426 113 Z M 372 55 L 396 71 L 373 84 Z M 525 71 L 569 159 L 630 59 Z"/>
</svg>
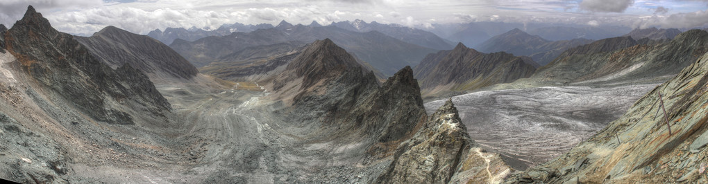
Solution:
<svg viewBox="0 0 708 184">
<path fill-rule="evenodd" d="M 171 109 L 143 73 L 130 65 L 113 70 L 101 63 L 72 35 L 52 28 L 32 6 L 4 38 L 6 49 L 31 78 L 98 121 L 132 124 L 132 116 L 120 106 L 153 116 Z"/>
</svg>

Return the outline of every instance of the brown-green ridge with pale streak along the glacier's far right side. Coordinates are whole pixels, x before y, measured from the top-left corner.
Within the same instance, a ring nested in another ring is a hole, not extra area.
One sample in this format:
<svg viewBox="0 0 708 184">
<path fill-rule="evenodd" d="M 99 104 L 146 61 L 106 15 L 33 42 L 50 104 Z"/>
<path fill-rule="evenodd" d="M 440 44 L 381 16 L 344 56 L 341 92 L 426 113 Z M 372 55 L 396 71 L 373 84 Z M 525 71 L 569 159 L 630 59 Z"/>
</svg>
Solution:
<svg viewBox="0 0 708 184">
<path fill-rule="evenodd" d="M 639 44 L 632 37 L 600 39 L 568 49 L 529 78 L 537 82 L 623 82 L 674 75 L 708 51 L 708 32 L 689 30 L 669 42 Z M 572 71 L 572 72 L 569 72 Z"/>
</svg>

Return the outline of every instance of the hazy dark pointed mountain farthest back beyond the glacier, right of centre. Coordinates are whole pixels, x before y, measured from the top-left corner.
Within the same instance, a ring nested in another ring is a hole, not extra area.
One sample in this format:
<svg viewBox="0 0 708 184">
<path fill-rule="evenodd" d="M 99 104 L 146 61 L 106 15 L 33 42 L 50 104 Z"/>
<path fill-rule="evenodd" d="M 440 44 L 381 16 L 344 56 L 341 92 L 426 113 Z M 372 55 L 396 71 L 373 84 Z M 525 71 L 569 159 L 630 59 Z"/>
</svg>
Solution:
<svg viewBox="0 0 708 184">
<path fill-rule="evenodd" d="M 516 56 L 530 56 L 541 66 L 556 59 L 566 49 L 592 42 L 590 39 L 570 39 L 549 41 L 537 35 L 529 35 L 519 29 L 513 29 L 502 35 L 492 37 L 479 46 L 485 53 L 505 51 Z"/>
</svg>

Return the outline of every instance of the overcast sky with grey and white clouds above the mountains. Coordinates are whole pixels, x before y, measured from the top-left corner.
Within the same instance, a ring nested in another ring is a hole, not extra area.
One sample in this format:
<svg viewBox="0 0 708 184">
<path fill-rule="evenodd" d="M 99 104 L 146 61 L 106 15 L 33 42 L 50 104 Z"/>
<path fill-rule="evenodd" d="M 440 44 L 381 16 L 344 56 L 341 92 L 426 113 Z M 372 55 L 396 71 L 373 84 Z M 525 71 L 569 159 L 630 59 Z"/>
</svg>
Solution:
<svg viewBox="0 0 708 184">
<path fill-rule="evenodd" d="M 0 23 L 11 27 L 26 7 L 58 30 L 91 34 L 107 25 L 147 34 L 165 27 L 215 29 L 224 23 L 280 20 L 327 25 L 362 19 L 430 27 L 480 21 L 588 26 L 704 27 L 708 0 L 1 0 Z"/>
</svg>

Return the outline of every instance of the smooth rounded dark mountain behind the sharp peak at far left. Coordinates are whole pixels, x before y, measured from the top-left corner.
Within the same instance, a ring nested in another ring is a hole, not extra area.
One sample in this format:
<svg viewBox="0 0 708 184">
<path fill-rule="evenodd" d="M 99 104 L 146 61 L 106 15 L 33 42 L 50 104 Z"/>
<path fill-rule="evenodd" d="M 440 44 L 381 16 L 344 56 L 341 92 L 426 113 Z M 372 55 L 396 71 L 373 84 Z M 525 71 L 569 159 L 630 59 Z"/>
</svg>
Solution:
<svg viewBox="0 0 708 184">
<path fill-rule="evenodd" d="M 199 71 L 189 61 L 161 42 L 108 26 L 91 37 L 75 37 L 97 59 L 111 68 L 126 63 L 142 70 L 151 78 L 191 79 Z"/>
</svg>

